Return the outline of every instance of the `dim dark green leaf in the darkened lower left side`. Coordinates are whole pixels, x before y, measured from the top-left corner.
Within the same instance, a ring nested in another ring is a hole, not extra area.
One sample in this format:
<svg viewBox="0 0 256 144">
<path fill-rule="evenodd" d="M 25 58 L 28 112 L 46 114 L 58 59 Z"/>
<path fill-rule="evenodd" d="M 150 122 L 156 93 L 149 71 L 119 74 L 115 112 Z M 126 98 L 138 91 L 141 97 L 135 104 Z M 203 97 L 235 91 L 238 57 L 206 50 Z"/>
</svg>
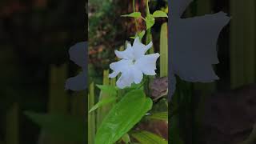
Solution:
<svg viewBox="0 0 256 144">
<path fill-rule="evenodd" d="M 24 114 L 50 134 L 70 141 L 85 142 L 86 122 L 79 118 L 71 115 L 39 114 L 30 111 Z"/>
</svg>

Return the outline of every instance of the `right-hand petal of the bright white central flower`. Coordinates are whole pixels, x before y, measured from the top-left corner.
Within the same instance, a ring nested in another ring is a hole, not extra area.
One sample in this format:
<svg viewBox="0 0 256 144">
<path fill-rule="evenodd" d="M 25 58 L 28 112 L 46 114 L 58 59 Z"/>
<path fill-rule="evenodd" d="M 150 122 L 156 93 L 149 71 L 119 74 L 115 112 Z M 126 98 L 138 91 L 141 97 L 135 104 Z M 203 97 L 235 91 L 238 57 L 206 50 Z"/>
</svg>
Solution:
<svg viewBox="0 0 256 144">
<path fill-rule="evenodd" d="M 135 67 L 138 70 L 142 70 L 142 72 L 146 75 L 155 75 L 156 73 L 154 70 L 157 69 L 156 61 L 159 56 L 160 56 L 160 54 L 158 54 L 158 53 L 144 55 L 144 56 L 142 56 L 142 58 L 139 58 L 135 62 Z"/>
</svg>

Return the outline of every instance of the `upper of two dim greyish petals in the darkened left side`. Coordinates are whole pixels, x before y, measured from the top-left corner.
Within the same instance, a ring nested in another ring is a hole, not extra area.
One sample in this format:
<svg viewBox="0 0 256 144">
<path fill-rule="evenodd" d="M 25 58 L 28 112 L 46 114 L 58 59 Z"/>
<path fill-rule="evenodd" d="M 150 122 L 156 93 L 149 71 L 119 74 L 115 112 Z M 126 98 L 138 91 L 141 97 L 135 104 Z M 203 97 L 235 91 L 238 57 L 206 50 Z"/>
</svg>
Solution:
<svg viewBox="0 0 256 144">
<path fill-rule="evenodd" d="M 87 42 L 78 42 L 69 50 L 70 60 L 82 68 L 86 67 Z"/>
</svg>

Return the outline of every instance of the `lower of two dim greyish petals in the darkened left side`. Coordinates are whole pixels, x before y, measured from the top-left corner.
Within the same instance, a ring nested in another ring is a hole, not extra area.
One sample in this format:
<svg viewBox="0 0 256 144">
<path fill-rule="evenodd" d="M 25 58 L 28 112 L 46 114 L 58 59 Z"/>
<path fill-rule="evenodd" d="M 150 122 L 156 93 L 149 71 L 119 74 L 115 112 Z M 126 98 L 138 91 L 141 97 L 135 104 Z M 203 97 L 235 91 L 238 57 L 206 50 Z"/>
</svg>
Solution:
<svg viewBox="0 0 256 144">
<path fill-rule="evenodd" d="M 75 77 L 68 78 L 65 85 L 66 90 L 86 90 L 86 70 Z"/>
</svg>

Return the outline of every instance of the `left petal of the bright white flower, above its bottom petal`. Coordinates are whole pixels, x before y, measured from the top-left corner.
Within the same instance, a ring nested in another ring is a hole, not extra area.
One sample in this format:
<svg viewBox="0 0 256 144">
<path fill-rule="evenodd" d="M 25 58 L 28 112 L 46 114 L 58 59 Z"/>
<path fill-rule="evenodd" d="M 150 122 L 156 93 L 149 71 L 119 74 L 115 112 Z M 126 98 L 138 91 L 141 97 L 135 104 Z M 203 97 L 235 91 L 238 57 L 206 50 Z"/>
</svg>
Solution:
<svg viewBox="0 0 256 144">
<path fill-rule="evenodd" d="M 109 74 L 110 78 L 116 77 L 120 72 L 124 72 L 129 69 L 130 65 L 132 64 L 132 60 L 122 59 L 118 62 L 113 62 L 110 64 L 110 69 L 114 72 Z"/>
</svg>

